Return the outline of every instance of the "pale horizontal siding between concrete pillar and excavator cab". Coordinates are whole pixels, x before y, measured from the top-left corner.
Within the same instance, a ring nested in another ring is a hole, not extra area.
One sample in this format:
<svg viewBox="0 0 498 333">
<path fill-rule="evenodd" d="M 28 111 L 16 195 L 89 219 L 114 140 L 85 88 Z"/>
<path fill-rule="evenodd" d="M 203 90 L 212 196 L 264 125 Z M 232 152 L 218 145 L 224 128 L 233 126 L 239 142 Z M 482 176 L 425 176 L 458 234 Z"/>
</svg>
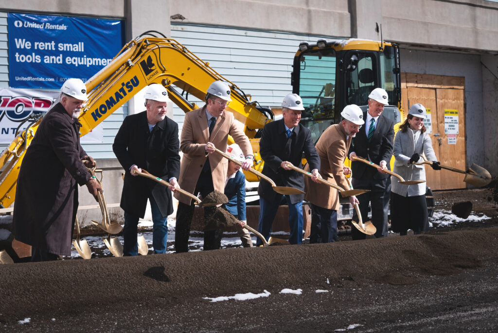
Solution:
<svg viewBox="0 0 498 333">
<path fill-rule="evenodd" d="M 299 42 L 327 37 L 172 22 L 171 38 L 209 62 L 250 94 L 252 101 L 279 107 L 283 97 L 292 92 L 290 73 Z M 181 127 L 183 112 L 175 108 L 174 115 Z"/>
</svg>

